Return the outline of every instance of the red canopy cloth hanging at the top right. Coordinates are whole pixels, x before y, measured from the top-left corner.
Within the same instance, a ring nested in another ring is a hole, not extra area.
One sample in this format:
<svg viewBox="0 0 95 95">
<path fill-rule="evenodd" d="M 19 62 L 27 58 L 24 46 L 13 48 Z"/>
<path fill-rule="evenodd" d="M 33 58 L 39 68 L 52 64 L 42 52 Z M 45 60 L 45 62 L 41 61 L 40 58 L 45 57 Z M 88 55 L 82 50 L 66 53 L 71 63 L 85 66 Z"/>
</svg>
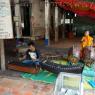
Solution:
<svg viewBox="0 0 95 95">
<path fill-rule="evenodd" d="M 70 10 L 79 16 L 95 18 L 95 3 L 84 0 L 55 0 L 65 10 Z"/>
</svg>

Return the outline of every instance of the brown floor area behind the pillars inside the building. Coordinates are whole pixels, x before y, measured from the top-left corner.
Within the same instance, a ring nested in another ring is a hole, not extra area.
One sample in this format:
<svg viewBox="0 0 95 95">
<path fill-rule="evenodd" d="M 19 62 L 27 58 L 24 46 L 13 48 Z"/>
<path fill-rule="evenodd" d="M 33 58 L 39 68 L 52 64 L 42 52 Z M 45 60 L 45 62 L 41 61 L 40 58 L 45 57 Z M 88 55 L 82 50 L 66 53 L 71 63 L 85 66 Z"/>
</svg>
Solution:
<svg viewBox="0 0 95 95">
<path fill-rule="evenodd" d="M 81 37 L 75 37 L 73 39 L 61 39 L 58 42 L 54 42 L 54 41 L 50 41 L 50 46 L 49 47 L 53 47 L 53 48 L 70 48 L 73 45 L 77 45 L 80 46 L 80 42 L 81 42 Z M 38 40 L 36 41 L 36 43 L 38 45 L 42 45 L 44 46 L 44 40 Z"/>
</svg>

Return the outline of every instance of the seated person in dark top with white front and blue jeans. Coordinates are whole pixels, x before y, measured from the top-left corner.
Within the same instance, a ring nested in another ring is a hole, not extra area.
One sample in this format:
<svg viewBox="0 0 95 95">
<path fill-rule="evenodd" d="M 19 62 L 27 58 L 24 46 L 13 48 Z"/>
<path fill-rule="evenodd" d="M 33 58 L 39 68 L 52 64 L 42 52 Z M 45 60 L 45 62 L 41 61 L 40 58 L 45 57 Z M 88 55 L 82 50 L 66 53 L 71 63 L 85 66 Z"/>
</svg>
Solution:
<svg viewBox="0 0 95 95">
<path fill-rule="evenodd" d="M 35 66 L 38 66 L 39 61 L 39 53 L 35 47 L 35 44 L 33 42 L 30 42 L 28 44 L 28 50 L 26 51 L 26 55 L 24 56 L 24 60 L 22 61 L 24 64 L 34 64 Z"/>
</svg>

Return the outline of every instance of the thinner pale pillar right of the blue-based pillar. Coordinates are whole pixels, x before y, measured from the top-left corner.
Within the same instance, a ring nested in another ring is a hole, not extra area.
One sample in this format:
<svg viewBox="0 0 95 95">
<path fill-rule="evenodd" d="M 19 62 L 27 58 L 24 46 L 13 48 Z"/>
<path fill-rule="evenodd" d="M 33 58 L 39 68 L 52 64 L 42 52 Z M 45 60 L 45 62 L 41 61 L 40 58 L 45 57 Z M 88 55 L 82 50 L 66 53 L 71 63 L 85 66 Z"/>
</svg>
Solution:
<svg viewBox="0 0 95 95">
<path fill-rule="evenodd" d="M 58 42 L 58 6 L 55 6 L 55 42 Z"/>
</svg>

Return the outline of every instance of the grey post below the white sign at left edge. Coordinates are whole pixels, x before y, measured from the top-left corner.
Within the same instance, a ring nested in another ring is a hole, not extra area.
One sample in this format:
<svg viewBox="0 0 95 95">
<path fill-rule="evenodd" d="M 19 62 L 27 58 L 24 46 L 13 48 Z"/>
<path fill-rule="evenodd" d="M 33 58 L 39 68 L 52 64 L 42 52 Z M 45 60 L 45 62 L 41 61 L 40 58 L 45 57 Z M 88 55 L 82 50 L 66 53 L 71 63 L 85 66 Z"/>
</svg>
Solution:
<svg viewBox="0 0 95 95">
<path fill-rule="evenodd" d="M 4 40 L 0 40 L 0 55 L 1 55 L 1 70 L 5 71 L 5 52 L 4 52 Z"/>
</svg>

